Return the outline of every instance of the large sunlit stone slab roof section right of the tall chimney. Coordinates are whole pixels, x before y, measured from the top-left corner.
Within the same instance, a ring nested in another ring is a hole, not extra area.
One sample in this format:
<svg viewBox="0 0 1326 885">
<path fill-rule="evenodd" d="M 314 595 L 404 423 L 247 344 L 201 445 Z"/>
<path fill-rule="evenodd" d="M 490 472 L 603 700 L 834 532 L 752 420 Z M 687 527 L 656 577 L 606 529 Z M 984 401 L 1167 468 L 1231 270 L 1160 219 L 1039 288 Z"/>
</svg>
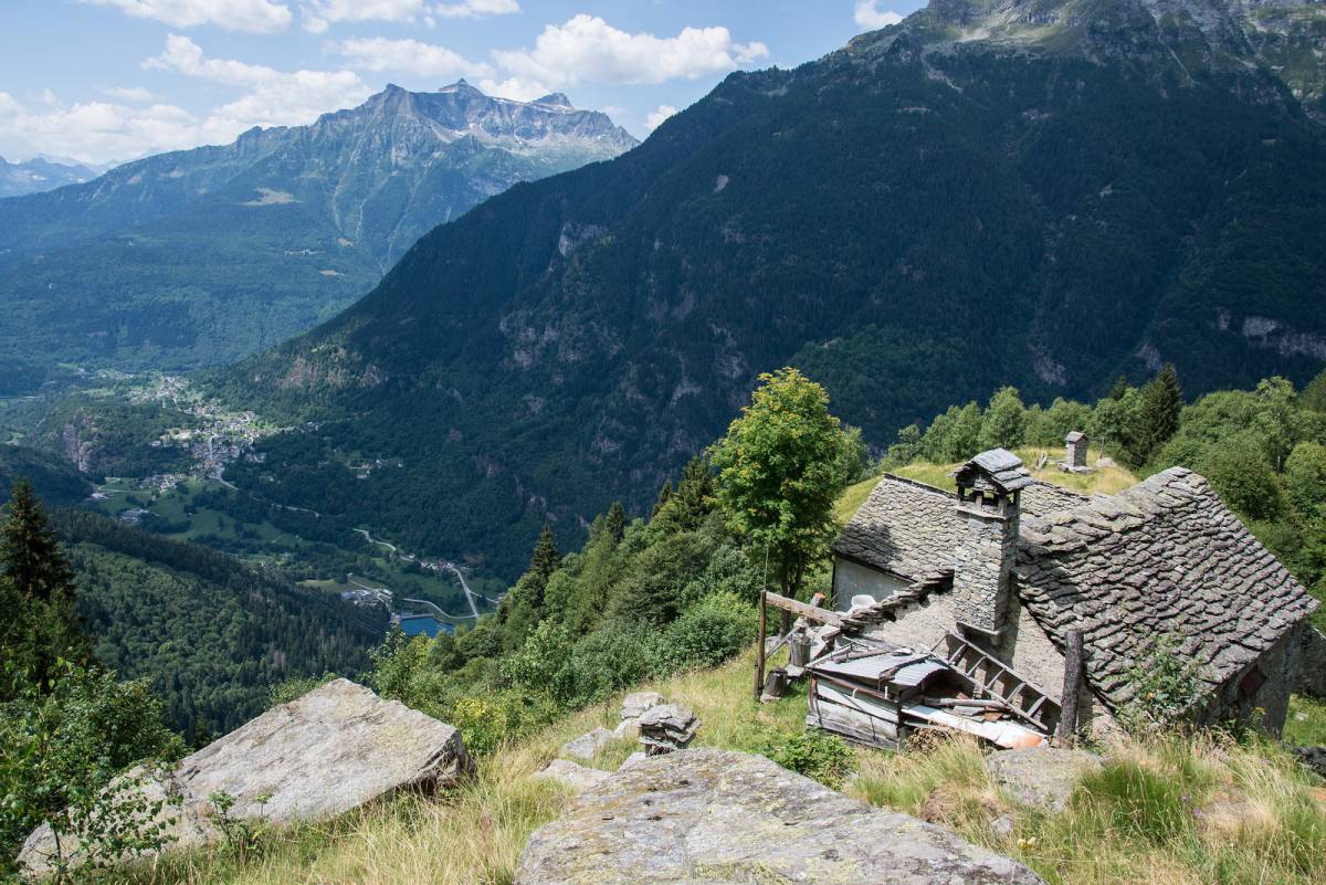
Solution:
<svg viewBox="0 0 1326 885">
<path fill-rule="evenodd" d="M 1207 481 L 1172 468 L 1113 497 L 1024 513 L 1018 596 L 1055 644 L 1083 631 L 1087 681 L 1111 706 L 1139 645 L 1183 640 L 1213 688 L 1274 645 L 1318 603 Z"/>
</svg>

